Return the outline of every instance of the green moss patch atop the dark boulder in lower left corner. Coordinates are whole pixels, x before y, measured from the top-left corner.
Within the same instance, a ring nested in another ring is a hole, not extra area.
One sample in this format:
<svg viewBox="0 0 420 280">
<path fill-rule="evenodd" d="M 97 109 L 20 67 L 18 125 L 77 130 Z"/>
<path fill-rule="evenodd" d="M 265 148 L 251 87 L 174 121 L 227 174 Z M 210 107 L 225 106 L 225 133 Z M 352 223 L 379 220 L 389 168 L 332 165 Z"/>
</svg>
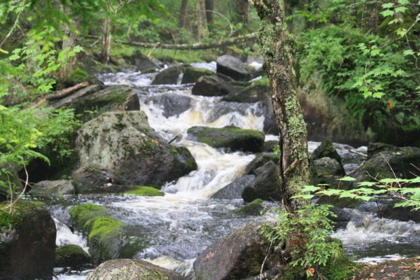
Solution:
<svg viewBox="0 0 420 280">
<path fill-rule="evenodd" d="M 0 228 L 13 228 L 18 225 L 25 216 L 29 216 L 31 212 L 43 208 L 43 202 L 18 202 L 12 208 L 10 213 L 9 209 L 5 209 L 8 202 L 0 204 Z"/>
</svg>

